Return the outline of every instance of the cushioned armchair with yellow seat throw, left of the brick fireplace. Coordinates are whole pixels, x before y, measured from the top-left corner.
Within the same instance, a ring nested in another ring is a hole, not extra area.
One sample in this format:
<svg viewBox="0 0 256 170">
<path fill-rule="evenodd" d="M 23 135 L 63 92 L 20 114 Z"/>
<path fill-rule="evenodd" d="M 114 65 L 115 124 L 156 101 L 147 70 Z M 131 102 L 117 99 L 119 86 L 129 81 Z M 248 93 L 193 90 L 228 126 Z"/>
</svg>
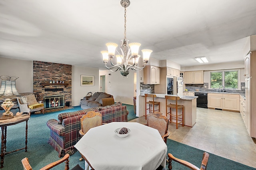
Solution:
<svg viewBox="0 0 256 170">
<path fill-rule="evenodd" d="M 42 101 L 37 102 L 34 94 L 17 98 L 17 101 L 21 112 L 27 112 L 29 115 L 34 111 L 44 113 L 44 104 Z"/>
</svg>

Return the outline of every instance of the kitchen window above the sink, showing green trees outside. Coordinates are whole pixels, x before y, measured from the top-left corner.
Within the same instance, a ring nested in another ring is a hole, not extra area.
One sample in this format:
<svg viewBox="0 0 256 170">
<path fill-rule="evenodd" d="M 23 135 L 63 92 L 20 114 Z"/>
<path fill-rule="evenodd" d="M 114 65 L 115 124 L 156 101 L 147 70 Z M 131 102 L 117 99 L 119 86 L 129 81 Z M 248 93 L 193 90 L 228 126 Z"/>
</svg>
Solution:
<svg viewBox="0 0 256 170">
<path fill-rule="evenodd" d="M 238 71 L 211 72 L 211 88 L 238 89 Z"/>
</svg>

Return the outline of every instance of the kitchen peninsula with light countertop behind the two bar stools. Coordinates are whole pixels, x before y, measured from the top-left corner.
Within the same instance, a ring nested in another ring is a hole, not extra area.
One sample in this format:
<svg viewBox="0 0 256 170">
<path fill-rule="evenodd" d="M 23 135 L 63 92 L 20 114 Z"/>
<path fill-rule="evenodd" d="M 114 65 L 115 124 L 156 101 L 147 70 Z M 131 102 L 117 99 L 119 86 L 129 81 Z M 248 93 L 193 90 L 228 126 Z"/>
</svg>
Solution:
<svg viewBox="0 0 256 170">
<path fill-rule="evenodd" d="M 163 115 L 166 115 L 166 103 L 165 103 L 165 96 L 177 96 L 177 95 L 170 95 L 170 94 L 155 94 L 156 98 L 154 99 L 155 102 L 160 102 L 160 112 Z M 145 96 L 144 94 L 140 95 L 143 97 L 143 102 L 145 104 Z M 178 100 L 178 105 L 184 106 L 184 125 L 193 127 L 196 124 L 196 98 L 198 96 L 179 96 L 180 100 Z M 150 99 L 150 98 L 147 98 Z M 168 104 L 175 104 L 175 101 L 168 100 Z M 147 105 L 148 107 L 148 105 Z M 157 106 L 156 106 L 157 107 Z M 175 109 L 172 109 L 174 112 Z M 145 106 L 144 106 L 144 115 L 145 115 Z M 182 113 L 182 109 L 178 109 L 178 113 Z M 147 111 L 148 114 L 148 111 Z M 168 119 L 170 116 L 168 115 Z"/>
</svg>

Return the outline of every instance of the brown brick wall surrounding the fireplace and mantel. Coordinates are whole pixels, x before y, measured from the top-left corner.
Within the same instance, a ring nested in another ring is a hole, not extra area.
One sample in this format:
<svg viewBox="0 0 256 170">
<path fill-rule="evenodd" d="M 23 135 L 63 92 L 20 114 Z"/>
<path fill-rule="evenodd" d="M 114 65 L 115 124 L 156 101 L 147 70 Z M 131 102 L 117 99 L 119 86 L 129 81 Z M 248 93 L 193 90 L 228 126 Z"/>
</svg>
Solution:
<svg viewBox="0 0 256 170">
<path fill-rule="evenodd" d="M 41 83 L 49 83 L 50 80 L 64 81 L 68 85 L 61 86 L 61 83 L 50 86 L 41 85 Z M 33 61 L 33 82 L 33 92 L 37 101 L 43 101 L 44 96 L 65 95 L 65 103 L 70 102 L 72 106 L 72 65 Z M 63 91 L 45 92 L 45 88 L 63 88 Z"/>
</svg>

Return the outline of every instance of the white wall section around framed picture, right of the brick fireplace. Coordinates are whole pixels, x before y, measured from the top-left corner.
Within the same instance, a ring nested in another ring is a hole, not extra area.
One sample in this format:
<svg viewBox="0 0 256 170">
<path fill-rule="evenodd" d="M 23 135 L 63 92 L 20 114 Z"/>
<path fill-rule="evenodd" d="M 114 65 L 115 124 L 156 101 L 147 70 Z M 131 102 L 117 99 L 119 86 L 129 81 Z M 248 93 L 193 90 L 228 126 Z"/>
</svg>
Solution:
<svg viewBox="0 0 256 170">
<path fill-rule="evenodd" d="M 94 76 L 94 86 L 80 86 L 80 75 Z M 88 92 L 99 92 L 99 69 L 81 66 L 72 66 L 72 106 L 80 105 L 81 99 Z"/>
</svg>

